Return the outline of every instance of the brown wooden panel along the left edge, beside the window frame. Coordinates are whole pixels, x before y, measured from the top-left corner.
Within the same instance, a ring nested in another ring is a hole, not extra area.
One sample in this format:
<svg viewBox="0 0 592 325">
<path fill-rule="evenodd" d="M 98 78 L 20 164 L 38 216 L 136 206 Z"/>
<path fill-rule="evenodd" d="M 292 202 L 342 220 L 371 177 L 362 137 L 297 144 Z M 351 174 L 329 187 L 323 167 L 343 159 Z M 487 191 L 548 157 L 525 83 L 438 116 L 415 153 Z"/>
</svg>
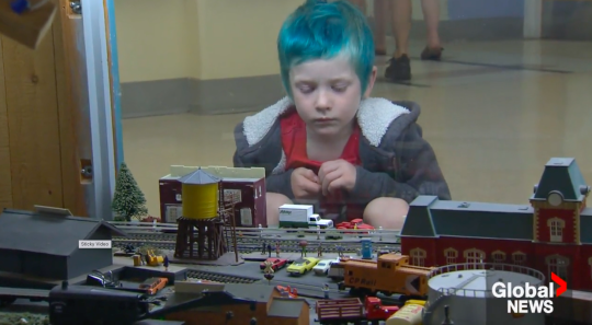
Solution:
<svg viewBox="0 0 592 325">
<path fill-rule="evenodd" d="M 0 36 L 0 209 L 44 205 L 88 216 L 81 16 L 70 1 L 53 1 L 59 12 L 36 50 Z"/>
</svg>

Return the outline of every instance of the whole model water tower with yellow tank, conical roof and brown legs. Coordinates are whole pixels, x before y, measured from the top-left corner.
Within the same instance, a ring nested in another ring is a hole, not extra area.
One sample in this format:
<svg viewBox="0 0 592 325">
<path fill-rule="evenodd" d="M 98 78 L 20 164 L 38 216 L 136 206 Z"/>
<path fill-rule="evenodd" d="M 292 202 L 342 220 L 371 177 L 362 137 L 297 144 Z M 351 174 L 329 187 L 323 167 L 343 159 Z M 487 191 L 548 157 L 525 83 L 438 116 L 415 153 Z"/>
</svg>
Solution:
<svg viewBox="0 0 592 325">
<path fill-rule="evenodd" d="M 178 219 L 174 257 L 218 259 L 227 252 L 224 220 L 219 216 L 221 179 L 198 169 L 179 182 L 183 216 Z"/>
</svg>

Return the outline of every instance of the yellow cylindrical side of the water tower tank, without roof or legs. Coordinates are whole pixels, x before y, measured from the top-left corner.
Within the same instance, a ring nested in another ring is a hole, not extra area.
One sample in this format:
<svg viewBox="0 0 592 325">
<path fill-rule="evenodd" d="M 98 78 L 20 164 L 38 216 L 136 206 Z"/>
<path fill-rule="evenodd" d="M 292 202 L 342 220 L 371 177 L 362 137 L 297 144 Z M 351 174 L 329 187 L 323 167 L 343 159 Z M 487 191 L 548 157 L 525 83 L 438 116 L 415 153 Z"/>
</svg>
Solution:
<svg viewBox="0 0 592 325">
<path fill-rule="evenodd" d="M 183 217 L 212 219 L 218 212 L 218 184 L 183 184 Z"/>
</svg>

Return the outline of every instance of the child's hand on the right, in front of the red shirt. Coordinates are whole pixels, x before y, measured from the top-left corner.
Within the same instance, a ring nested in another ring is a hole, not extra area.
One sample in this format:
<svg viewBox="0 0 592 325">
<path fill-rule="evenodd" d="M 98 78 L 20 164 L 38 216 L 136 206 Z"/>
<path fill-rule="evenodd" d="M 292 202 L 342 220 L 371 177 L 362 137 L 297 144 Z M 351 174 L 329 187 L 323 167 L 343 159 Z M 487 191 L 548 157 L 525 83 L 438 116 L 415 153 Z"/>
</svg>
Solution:
<svg viewBox="0 0 592 325">
<path fill-rule="evenodd" d="M 340 188 L 351 191 L 355 186 L 355 166 L 351 163 L 342 159 L 325 162 L 319 170 L 322 195 Z"/>
</svg>

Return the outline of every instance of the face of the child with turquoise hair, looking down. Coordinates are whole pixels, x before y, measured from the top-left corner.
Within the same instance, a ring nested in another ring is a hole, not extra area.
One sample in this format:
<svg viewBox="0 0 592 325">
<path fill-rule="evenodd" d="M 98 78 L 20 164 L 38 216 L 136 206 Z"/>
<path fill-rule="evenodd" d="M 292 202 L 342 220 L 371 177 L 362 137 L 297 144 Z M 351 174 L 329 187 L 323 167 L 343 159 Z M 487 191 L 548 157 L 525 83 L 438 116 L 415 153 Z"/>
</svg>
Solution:
<svg viewBox="0 0 592 325">
<path fill-rule="evenodd" d="M 360 79 L 350 60 L 337 57 L 307 61 L 292 68 L 289 83 L 298 115 L 307 130 L 317 136 L 335 136 L 351 128 L 362 95 L 367 97 L 376 79 L 372 71 L 362 94 Z"/>
</svg>

